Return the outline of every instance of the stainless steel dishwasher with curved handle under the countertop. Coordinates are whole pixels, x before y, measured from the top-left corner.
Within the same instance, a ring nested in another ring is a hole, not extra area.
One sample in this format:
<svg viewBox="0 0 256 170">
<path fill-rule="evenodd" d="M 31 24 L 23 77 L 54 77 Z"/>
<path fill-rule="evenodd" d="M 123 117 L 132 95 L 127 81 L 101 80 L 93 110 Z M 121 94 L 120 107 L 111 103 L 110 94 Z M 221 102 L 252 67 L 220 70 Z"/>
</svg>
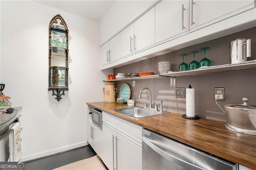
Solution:
<svg viewBox="0 0 256 170">
<path fill-rule="evenodd" d="M 238 170 L 238 164 L 142 129 L 142 168 L 144 170 Z"/>
</svg>

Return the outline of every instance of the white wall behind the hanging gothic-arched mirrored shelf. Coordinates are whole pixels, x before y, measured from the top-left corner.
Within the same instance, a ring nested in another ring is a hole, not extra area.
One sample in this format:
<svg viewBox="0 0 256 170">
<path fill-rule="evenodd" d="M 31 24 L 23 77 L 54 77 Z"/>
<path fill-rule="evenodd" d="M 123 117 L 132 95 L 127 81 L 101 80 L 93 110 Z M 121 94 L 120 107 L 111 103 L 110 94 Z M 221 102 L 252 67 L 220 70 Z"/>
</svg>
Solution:
<svg viewBox="0 0 256 170">
<path fill-rule="evenodd" d="M 48 91 L 48 25 L 57 14 L 69 29 L 69 91 Z M 99 24 L 33 1 L 1 1 L 0 82 L 22 106 L 22 161 L 87 144 L 86 102 L 103 101 Z"/>
</svg>

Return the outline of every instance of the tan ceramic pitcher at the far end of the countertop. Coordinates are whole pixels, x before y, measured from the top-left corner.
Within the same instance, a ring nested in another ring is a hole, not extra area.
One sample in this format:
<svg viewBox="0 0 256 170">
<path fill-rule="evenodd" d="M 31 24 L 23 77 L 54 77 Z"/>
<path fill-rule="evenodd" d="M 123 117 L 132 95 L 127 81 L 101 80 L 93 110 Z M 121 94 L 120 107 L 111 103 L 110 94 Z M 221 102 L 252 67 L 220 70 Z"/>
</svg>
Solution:
<svg viewBox="0 0 256 170">
<path fill-rule="evenodd" d="M 116 102 L 116 88 L 114 83 L 106 83 L 103 88 L 104 93 L 104 102 L 105 103 L 114 103 Z"/>
</svg>

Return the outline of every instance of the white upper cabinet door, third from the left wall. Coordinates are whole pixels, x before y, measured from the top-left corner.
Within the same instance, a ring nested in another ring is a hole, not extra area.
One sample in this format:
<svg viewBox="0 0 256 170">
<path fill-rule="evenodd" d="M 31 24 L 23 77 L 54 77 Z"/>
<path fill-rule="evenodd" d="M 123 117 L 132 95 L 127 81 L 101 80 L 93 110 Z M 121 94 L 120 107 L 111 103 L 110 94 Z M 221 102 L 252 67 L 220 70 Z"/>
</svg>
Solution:
<svg viewBox="0 0 256 170">
<path fill-rule="evenodd" d="M 131 54 L 134 49 L 134 22 L 120 32 L 120 56 Z"/>
</svg>

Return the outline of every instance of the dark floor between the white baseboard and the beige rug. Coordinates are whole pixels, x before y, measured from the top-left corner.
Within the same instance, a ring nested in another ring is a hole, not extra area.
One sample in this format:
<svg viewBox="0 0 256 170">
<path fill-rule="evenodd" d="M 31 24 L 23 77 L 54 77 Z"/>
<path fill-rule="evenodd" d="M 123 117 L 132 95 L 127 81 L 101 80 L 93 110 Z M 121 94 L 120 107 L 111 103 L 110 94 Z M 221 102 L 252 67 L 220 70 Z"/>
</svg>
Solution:
<svg viewBox="0 0 256 170">
<path fill-rule="evenodd" d="M 83 160 L 95 156 L 96 153 L 92 148 L 84 146 L 82 148 L 77 148 L 67 152 L 62 152 L 45 158 L 40 158 L 37 160 L 32 160 L 30 162 L 25 162 L 26 170 L 52 170 L 78 160 Z"/>
</svg>

